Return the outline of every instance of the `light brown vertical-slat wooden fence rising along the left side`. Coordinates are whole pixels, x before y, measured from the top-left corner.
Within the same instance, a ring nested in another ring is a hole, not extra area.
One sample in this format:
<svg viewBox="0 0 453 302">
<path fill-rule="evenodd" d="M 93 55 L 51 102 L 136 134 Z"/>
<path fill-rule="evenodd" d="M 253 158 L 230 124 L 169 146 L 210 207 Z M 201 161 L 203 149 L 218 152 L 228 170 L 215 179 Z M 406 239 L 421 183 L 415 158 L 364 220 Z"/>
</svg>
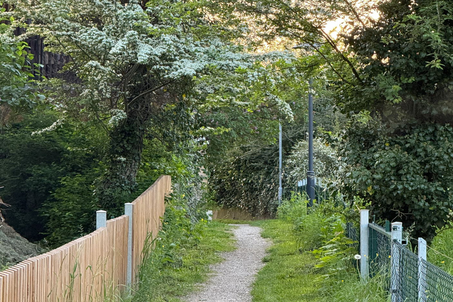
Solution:
<svg viewBox="0 0 453 302">
<path fill-rule="evenodd" d="M 96 302 L 120 294 L 128 270 L 135 279 L 147 235 L 159 232 L 170 190 L 171 177 L 161 176 L 132 202 L 131 216 L 108 220 L 91 234 L 0 272 L 0 302 Z"/>
</svg>

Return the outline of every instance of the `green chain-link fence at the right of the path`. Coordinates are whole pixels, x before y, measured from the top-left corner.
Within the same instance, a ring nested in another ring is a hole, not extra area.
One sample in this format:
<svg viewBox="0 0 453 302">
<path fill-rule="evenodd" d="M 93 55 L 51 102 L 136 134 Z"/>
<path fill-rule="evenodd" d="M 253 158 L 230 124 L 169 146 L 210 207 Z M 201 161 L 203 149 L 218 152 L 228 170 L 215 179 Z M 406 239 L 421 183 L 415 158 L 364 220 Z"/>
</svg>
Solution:
<svg viewBox="0 0 453 302">
<path fill-rule="evenodd" d="M 391 293 L 391 302 L 453 302 L 453 276 L 419 259 L 408 246 L 392 242 L 390 223 L 386 227 L 370 223 L 368 231 L 370 278 L 388 276 L 386 289 Z M 354 247 L 360 251 L 358 228 L 347 223 L 346 233 L 357 241 Z"/>
</svg>

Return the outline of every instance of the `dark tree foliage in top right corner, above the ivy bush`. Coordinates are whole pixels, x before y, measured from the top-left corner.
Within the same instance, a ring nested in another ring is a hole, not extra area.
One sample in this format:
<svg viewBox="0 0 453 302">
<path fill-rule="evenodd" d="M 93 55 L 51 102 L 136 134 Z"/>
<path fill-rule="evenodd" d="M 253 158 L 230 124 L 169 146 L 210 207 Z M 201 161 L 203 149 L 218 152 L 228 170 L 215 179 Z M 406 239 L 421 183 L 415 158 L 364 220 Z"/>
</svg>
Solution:
<svg viewBox="0 0 453 302">
<path fill-rule="evenodd" d="M 363 68 L 361 82 L 340 91 L 343 110 L 376 111 L 392 123 L 451 122 L 452 2 L 386 1 L 377 9 L 376 22 L 344 35 Z"/>
</svg>

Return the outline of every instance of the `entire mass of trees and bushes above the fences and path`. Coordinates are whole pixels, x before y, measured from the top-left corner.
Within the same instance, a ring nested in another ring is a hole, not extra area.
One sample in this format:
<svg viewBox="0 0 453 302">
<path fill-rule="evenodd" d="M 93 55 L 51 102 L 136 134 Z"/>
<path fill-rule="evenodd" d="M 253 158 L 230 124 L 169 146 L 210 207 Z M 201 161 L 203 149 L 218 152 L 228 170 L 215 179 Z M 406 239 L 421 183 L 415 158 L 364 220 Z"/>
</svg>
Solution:
<svg viewBox="0 0 453 302">
<path fill-rule="evenodd" d="M 119 215 L 159 173 L 192 192 L 203 170 L 218 204 L 275 213 L 278 124 L 289 196 L 306 170 L 309 90 L 318 177 L 417 235 L 449 224 L 452 1 L 9 3 L 0 181 L 16 229 L 24 212 L 44 218 L 29 238 L 76 237 L 58 225 Z M 67 58 L 59 77 L 33 77 L 23 41 L 36 35 Z"/>
</svg>

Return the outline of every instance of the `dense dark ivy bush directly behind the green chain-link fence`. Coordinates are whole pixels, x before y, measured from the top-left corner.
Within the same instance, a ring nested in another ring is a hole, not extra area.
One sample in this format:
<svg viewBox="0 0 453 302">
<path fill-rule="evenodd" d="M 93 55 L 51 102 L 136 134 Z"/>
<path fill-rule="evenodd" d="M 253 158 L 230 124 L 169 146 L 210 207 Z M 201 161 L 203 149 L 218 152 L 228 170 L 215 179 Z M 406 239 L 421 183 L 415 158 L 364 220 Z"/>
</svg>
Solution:
<svg viewBox="0 0 453 302">
<path fill-rule="evenodd" d="M 344 193 L 371 202 L 377 217 L 414 224 L 415 235 L 433 238 L 448 223 L 453 206 L 453 128 L 425 123 L 397 134 L 369 121 L 347 130 L 339 152 Z"/>
</svg>

